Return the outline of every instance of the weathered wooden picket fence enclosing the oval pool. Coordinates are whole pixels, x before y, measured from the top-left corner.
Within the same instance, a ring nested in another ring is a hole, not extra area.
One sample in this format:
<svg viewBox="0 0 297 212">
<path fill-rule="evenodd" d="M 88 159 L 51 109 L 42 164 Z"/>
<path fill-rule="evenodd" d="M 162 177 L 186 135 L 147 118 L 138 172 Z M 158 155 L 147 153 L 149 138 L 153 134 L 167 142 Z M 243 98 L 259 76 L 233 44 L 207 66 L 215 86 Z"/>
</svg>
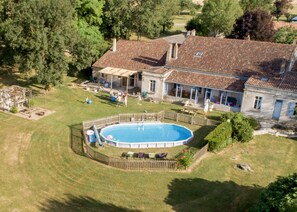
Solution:
<svg viewBox="0 0 297 212">
<path fill-rule="evenodd" d="M 218 125 L 218 121 L 204 119 L 203 117 L 195 117 L 186 114 L 179 114 L 173 111 L 161 111 L 158 113 L 132 113 L 132 114 L 119 114 L 115 116 L 104 117 L 96 120 L 84 121 L 82 129 L 80 130 L 80 136 L 78 136 L 77 128 L 71 128 L 71 148 L 74 152 L 80 154 L 83 152 L 87 157 L 103 163 L 107 166 L 111 166 L 123 170 L 159 170 L 159 171 L 176 171 L 178 169 L 178 159 L 165 159 L 165 160 L 153 160 L 153 159 L 126 159 L 126 158 L 114 158 L 100 153 L 95 147 L 92 147 L 87 140 L 86 130 L 90 129 L 93 125 L 96 125 L 98 129 L 108 125 L 125 123 L 125 122 L 156 122 L 164 119 L 173 120 L 176 122 L 183 122 L 187 124 L 195 125 Z M 75 134 L 72 134 L 75 132 Z M 80 139 L 79 139 L 80 137 Z M 73 144 L 74 143 L 74 144 Z M 194 161 L 201 159 L 207 153 L 208 145 L 202 147 L 197 151 L 193 157 Z"/>
</svg>

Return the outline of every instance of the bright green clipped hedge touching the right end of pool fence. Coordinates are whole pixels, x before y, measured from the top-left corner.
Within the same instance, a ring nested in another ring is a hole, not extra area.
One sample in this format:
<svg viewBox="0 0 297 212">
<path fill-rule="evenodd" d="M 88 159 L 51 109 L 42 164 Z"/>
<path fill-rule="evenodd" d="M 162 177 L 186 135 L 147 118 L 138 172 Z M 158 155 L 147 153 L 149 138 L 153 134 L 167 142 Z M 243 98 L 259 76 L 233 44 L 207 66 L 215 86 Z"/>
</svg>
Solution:
<svg viewBox="0 0 297 212">
<path fill-rule="evenodd" d="M 208 143 L 208 150 L 221 150 L 232 143 L 232 126 L 225 121 L 209 133 L 204 140 Z"/>
</svg>

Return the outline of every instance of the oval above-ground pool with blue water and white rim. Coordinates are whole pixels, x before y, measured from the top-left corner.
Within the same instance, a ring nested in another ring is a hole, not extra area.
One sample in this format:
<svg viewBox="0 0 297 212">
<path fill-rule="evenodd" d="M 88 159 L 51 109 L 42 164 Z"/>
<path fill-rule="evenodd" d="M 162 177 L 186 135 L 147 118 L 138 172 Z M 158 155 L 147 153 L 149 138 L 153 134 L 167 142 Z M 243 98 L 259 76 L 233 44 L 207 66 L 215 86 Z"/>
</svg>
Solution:
<svg viewBox="0 0 297 212">
<path fill-rule="evenodd" d="M 100 136 L 116 147 L 159 148 L 188 143 L 193 138 L 193 132 L 176 124 L 139 122 L 105 127 Z"/>
</svg>

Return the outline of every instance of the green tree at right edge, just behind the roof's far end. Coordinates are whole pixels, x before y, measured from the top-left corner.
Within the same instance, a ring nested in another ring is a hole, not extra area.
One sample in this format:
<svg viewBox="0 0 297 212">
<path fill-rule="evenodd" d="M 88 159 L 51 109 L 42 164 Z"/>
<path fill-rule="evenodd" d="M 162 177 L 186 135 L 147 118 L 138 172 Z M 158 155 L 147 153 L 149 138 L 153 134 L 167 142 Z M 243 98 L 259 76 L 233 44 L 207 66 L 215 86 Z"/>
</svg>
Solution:
<svg viewBox="0 0 297 212">
<path fill-rule="evenodd" d="M 292 26 L 284 26 L 277 30 L 273 36 L 276 43 L 292 44 L 297 39 L 297 29 Z"/>
</svg>

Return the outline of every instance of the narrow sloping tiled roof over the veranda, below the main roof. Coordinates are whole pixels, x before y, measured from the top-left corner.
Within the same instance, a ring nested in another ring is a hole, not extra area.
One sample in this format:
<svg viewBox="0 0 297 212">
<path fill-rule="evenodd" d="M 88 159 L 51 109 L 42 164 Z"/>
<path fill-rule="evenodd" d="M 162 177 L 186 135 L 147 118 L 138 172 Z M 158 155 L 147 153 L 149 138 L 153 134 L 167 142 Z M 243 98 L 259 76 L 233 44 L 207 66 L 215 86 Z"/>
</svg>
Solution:
<svg viewBox="0 0 297 212">
<path fill-rule="evenodd" d="M 245 81 L 235 77 L 224 77 L 177 70 L 170 73 L 166 82 L 238 92 L 243 92 L 245 83 Z"/>
</svg>

